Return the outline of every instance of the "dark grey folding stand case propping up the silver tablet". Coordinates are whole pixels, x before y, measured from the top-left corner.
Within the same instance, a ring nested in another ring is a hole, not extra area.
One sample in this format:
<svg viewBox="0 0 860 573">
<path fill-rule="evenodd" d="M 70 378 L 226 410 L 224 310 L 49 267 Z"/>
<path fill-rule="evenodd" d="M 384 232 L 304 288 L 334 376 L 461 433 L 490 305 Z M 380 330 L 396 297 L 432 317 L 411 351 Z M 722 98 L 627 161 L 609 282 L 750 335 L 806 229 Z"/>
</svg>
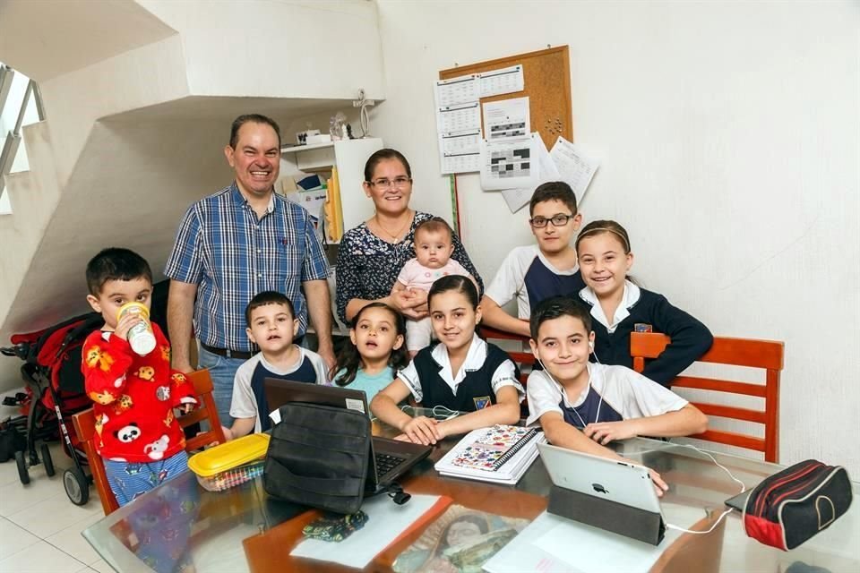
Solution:
<svg viewBox="0 0 860 573">
<path fill-rule="evenodd" d="M 659 513 L 633 508 L 612 500 L 601 500 L 587 493 L 573 492 L 553 485 L 549 492 L 549 513 L 599 527 L 641 542 L 659 545 L 666 524 Z"/>
</svg>

